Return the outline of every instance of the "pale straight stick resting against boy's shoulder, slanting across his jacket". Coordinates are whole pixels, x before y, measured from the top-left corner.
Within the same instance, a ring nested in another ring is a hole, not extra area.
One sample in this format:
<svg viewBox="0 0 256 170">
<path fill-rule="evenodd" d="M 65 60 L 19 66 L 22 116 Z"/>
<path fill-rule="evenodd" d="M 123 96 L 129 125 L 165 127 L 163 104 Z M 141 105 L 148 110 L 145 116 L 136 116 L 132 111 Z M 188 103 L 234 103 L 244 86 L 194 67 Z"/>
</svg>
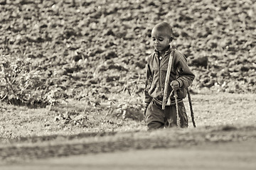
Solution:
<svg viewBox="0 0 256 170">
<path fill-rule="evenodd" d="M 168 63 L 168 69 L 166 72 L 166 80 L 164 82 L 164 97 L 163 97 L 163 103 L 162 103 L 162 110 L 164 110 L 164 108 L 166 106 L 167 90 L 168 90 L 169 81 L 170 81 L 171 65 L 172 65 L 173 59 L 174 59 L 174 50 L 171 50 L 171 55 L 169 57 L 169 63 Z"/>
</svg>

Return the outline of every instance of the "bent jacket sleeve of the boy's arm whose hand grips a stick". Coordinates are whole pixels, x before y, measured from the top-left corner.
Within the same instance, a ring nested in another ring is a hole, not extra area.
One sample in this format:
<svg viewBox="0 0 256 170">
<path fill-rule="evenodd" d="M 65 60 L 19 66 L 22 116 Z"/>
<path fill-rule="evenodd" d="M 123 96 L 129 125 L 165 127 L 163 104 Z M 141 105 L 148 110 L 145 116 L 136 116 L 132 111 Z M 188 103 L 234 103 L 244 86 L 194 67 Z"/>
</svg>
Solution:
<svg viewBox="0 0 256 170">
<path fill-rule="evenodd" d="M 191 86 L 193 79 L 195 79 L 195 75 L 191 72 L 191 69 L 189 69 L 186 57 L 184 57 L 181 53 L 178 53 L 176 71 L 178 75 L 176 80 L 178 81 L 180 87 L 185 89 L 188 86 Z"/>
</svg>

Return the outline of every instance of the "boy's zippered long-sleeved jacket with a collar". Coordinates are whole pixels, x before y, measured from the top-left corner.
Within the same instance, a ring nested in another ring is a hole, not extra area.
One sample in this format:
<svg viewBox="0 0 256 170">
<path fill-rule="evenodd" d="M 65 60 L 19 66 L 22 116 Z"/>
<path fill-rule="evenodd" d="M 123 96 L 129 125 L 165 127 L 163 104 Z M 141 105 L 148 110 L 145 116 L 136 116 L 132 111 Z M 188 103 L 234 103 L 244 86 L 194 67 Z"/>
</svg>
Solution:
<svg viewBox="0 0 256 170">
<path fill-rule="evenodd" d="M 159 52 L 156 50 L 148 57 L 146 64 L 146 84 L 144 89 L 144 102 L 148 105 L 151 100 L 157 101 L 159 104 L 163 101 L 164 84 L 166 80 L 166 72 L 169 64 L 169 57 L 174 50 L 174 58 L 171 66 L 170 81 L 167 91 L 167 96 L 170 96 L 172 88 L 171 81 L 177 80 L 180 84 L 180 89 L 177 90 L 178 100 L 186 98 L 186 88 L 192 84 L 195 75 L 189 69 L 186 57 L 174 49 L 169 47 L 166 50 L 164 57 L 159 59 Z M 171 96 L 172 101 L 175 101 L 174 96 Z"/>
</svg>

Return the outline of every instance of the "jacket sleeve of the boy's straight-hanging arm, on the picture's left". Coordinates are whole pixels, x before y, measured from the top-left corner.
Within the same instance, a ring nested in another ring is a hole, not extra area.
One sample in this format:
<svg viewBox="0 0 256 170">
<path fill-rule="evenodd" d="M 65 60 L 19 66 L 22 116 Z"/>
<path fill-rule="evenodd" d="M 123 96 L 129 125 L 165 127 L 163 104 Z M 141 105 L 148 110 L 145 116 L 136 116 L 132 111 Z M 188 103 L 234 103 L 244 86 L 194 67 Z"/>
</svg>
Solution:
<svg viewBox="0 0 256 170">
<path fill-rule="evenodd" d="M 149 103 L 151 102 L 152 98 L 151 96 L 149 96 L 149 89 L 151 86 L 151 82 L 152 82 L 152 75 L 151 75 L 151 70 L 149 67 L 149 60 L 146 64 L 146 82 L 145 82 L 145 89 L 144 89 L 144 94 L 145 94 L 145 98 L 144 98 L 144 102 L 145 105 L 148 106 Z"/>
</svg>

